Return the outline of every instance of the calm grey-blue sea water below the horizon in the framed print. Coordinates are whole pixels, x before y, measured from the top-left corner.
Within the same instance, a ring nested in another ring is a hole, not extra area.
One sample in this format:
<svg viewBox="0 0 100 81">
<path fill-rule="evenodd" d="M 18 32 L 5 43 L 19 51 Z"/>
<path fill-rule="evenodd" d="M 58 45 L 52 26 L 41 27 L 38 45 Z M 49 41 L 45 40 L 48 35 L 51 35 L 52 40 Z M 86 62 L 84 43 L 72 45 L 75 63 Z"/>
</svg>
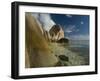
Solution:
<svg viewBox="0 0 100 81">
<path fill-rule="evenodd" d="M 71 40 L 68 49 L 85 59 L 85 64 L 89 65 L 89 40 Z"/>
</svg>

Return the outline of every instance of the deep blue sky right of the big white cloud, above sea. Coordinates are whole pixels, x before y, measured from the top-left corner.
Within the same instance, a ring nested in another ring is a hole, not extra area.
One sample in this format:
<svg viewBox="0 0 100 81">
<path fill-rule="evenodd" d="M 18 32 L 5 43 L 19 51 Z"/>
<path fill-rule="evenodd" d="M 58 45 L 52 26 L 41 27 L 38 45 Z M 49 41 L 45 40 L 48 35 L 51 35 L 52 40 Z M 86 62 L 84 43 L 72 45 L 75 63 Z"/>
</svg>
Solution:
<svg viewBox="0 0 100 81">
<path fill-rule="evenodd" d="M 79 40 L 89 39 L 89 16 L 50 14 L 56 24 L 60 24 L 65 32 L 65 37 Z"/>
</svg>

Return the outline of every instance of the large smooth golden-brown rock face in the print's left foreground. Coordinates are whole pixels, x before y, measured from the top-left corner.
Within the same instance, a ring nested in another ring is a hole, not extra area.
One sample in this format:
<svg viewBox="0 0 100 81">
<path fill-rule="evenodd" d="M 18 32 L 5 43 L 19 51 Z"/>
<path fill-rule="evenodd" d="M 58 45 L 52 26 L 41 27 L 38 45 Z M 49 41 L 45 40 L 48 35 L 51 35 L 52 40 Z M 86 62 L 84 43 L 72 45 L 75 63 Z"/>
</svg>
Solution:
<svg viewBox="0 0 100 81">
<path fill-rule="evenodd" d="M 58 60 L 50 53 L 43 31 L 30 13 L 25 15 L 25 27 L 25 67 L 54 66 Z"/>
</svg>

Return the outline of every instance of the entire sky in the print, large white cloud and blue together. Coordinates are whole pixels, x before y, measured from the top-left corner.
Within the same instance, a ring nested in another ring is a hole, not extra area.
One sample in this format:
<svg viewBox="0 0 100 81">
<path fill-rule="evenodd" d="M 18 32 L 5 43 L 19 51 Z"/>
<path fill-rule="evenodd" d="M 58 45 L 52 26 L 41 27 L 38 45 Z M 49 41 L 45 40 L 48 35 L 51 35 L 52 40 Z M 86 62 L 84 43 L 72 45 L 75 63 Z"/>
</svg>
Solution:
<svg viewBox="0 0 100 81">
<path fill-rule="evenodd" d="M 89 16 L 71 14 L 32 13 L 49 31 L 53 25 L 59 24 L 64 30 L 65 38 L 72 40 L 89 40 Z"/>
</svg>

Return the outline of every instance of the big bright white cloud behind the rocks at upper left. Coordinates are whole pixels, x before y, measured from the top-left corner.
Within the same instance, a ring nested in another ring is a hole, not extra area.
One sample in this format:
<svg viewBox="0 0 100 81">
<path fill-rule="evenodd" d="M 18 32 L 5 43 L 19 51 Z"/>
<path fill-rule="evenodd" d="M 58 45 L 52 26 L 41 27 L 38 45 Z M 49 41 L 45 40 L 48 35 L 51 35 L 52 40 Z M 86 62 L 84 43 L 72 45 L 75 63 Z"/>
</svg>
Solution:
<svg viewBox="0 0 100 81">
<path fill-rule="evenodd" d="M 32 14 L 38 21 L 41 23 L 41 25 L 44 27 L 45 30 L 49 31 L 53 25 L 55 25 L 55 22 L 52 20 L 50 14 Z"/>
</svg>

